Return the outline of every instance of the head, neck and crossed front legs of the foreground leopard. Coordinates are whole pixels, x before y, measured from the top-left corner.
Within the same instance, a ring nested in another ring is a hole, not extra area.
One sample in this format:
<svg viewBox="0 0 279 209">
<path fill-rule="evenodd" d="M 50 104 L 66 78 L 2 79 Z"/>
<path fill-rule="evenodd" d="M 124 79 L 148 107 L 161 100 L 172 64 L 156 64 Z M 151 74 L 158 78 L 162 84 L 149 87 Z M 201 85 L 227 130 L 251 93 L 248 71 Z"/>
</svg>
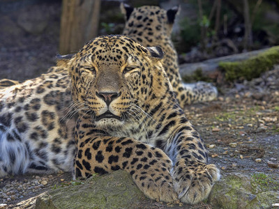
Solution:
<svg viewBox="0 0 279 209">
<path fill-rule="evenodd" d="M 128 171 L 150 199 L 197 203 L 220 173 L 186 118 L 163 67 L 163 50 L 128 36 L 91 40 L 68 61 L 75 178 Z"/>
</svg>

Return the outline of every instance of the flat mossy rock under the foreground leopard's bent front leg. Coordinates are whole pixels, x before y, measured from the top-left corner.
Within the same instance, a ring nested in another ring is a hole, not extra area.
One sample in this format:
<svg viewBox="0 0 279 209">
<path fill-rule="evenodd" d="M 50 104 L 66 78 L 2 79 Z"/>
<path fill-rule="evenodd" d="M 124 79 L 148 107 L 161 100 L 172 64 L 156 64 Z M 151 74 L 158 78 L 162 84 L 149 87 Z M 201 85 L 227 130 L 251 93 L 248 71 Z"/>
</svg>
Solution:
<svg viewBox="0 0 279 209">
<path fill-rule="evenodd" d="M 144 200 L 130 174 L 119 170 L 84 185 L 53 189 L 36 200 L 35 208 L 137 208 Z"/>
</svg>

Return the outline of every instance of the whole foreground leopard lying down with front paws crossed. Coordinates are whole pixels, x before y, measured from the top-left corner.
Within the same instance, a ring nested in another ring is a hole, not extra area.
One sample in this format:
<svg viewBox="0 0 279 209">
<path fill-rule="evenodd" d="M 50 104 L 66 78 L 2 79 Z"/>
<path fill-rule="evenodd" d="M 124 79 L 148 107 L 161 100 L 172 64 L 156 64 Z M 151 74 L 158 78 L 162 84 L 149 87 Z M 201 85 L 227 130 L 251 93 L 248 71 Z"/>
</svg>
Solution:
<svg viewBox="0 0 279 209">
<path fill-rule="evenodd" d="M 126 36 L 103 36 L 62 56 L 48 74 L 2 89 L 0 176 L 62 169 L 88 178 L 123 169 L 151 199 L 205 199 L 219 171 L 206 164 L 163 54 Z"/>
</svg>

